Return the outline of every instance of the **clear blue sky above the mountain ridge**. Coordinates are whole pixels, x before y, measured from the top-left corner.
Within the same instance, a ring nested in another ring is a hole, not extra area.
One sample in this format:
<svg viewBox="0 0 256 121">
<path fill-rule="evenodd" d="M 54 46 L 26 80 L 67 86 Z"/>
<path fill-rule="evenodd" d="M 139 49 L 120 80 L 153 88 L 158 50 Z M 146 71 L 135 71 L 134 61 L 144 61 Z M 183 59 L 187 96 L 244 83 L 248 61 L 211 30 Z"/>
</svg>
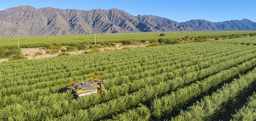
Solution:
<svg viewBox="0 0 256 121">
<path fill-rule="evenodd" d="M 256 0 L 0 0 L 0 9 L 30 5 L 60 9 L 117 8 L 137 15 L 155 15 L 177 22 L 205 19 L 219 22 L 249 19 L 256 22 Z"/>
</svg>

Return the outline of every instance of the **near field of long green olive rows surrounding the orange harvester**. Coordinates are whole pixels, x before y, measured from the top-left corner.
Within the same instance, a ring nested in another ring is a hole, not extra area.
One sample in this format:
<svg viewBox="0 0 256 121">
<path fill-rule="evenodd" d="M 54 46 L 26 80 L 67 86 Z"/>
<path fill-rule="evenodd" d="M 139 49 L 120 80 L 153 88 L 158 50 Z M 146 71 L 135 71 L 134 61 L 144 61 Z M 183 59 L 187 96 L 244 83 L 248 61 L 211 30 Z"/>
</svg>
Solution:
<svg viewBox="0 0 256 121">
<path fill-rule="evenodd" d="M 2 62 L 0 119 L 215 121 L 253 90 L 255 67 L 256 37 Z M 106 90 L 73 98 L 68 81 L 90 74 Z M 230 120 L 255 111 L 249 100 Z"/>
</svg>

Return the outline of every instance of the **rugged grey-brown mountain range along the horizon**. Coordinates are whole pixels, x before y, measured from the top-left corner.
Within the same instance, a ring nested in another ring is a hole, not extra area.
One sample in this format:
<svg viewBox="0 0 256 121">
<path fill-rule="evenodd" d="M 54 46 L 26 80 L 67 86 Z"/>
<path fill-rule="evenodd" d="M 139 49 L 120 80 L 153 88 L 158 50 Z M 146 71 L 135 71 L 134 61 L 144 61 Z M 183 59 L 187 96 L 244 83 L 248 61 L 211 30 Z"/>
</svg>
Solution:
<svg viewBox="0 0 256 121">
<path fill-rule="evenodd" d="M 0 37 L 73 35 L 195 30 L 255 30 L 248 19 L 210 22 L 203 19 L 182 23 L 153 16 L 133 16 L 123 10 L 74 10 L 18 6 L 0 10 Z"/>
</svg>

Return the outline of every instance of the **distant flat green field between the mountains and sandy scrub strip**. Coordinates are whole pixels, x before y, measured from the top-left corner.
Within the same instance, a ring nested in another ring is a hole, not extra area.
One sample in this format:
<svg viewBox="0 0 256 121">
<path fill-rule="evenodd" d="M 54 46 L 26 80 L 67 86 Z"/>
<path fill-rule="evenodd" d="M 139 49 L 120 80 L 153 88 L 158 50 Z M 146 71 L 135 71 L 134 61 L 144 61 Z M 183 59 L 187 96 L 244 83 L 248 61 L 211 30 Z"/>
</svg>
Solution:
<svg viewBox="0 0 256 121">
<path fill-rule="evenodd" d="M 165 36 L 159 36 L 160 33 L 165 33 Z M 96 34 L 96 44 L 104 42 L 119 43 L 122 40 L 152 40 L 152 39 L 175 39 L 175 38 L 189 38 L 198 36 L 225 36 L 233 34 L 250 34 L 256 31 L 172 31 L 172 32 L 147 32 L 147 33 L 111 33 L 111 34 Z M 37 48 L 43 47 L 44 44 L 62 44 L 67 46 L 70 43 L 89 42 L 95 43 L 94 34 L 86 35 L 61 35 L 61 36 L 32 36 L 19 37 L 21 48 Z M 0 38 L 0 46 L 17 45 L 17 37 Z"/>
</svg>

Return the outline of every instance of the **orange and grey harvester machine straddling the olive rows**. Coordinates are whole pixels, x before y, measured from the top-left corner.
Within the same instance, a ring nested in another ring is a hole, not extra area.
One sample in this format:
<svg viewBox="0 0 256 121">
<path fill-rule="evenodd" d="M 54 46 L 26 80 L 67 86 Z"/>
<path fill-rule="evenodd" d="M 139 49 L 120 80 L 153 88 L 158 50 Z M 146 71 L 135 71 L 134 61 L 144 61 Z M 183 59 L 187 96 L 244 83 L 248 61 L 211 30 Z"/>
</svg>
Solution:
<svg viewBox="0 0 256 121">
<path fill-rule="evenodd" d="M 80 81 L 72 84 L 72 81 L 69 81 L 69 86 L 67 87 L 69 90 L 72 90 L 73 93 L 78 96 L 86 96 L 92 93 L 100 93 L 104 90 L 104 80 L 98 78 L 99 75 L 87 75 L 84 81 Z M 107 79 L 106 79 L 107 80 Z"/>
</svg>

